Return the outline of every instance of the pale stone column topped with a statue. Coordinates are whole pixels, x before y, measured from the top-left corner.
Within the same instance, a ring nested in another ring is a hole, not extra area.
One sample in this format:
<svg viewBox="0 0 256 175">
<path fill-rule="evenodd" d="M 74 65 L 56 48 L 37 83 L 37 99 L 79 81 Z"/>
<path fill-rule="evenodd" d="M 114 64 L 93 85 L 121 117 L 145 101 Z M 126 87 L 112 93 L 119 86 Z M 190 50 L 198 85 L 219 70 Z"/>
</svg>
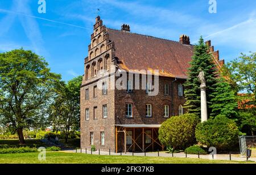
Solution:
<svg viewBox="0 0 256 175">
<path fill-rule="evenodd" d="M 204 71 L 200 68 L 199 79 L 201 89 L 201 122 L 207 121 L 207 97 L 206 97 L 206 81 Z"/>
</svg>

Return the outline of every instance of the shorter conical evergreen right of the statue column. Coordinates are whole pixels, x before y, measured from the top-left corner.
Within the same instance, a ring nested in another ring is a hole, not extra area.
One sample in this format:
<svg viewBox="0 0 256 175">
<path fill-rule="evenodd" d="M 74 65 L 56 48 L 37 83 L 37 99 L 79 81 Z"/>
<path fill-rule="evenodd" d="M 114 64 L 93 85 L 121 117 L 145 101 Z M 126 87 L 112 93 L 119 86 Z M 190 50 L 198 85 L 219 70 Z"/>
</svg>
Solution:
<svg viewBox="0 0 256 175">
<path fill-rule="evenodd" d="M 216 84 L 216 91 L 213 92 L 213 98 L 211 99 L 212 113 L 210 117 L 214 118 L 218 115 L 224 115 L 228 118 L 237 117 L 237 102 L 235 92 L 229 83 L 224 78 L 219 78 Z"/>
</svg>

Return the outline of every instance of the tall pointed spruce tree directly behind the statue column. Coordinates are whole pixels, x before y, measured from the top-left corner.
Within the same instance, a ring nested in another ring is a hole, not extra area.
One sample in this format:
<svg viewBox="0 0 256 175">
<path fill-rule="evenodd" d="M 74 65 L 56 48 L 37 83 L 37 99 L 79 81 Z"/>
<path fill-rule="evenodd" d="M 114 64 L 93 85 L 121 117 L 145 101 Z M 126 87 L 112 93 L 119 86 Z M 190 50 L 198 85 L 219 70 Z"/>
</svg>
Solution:
<svg viewBox="0 0 256 175">
<path fill-rule="evenodd" d="M 214 98 L 213 93 L 215 92 L 217 83 L 217 70 L 213 62 L 213 58 L 208 52 L 209 48 L 205 45 L 203 37 L 199 39 L 199 43 L 195 45 L 192 61 L 188 69 L 188 79 L 184 83 L 185 91 L 185 108 L 188 113 L 194 113 L 200 115 L 200 82 L 197 78 L 200 72 L 200 68 L 204 71 L 206 86 L 207 86 L 207 110 L 208 117 L 212 113 L 211 105 L 212 99 Z"/>
</svg>

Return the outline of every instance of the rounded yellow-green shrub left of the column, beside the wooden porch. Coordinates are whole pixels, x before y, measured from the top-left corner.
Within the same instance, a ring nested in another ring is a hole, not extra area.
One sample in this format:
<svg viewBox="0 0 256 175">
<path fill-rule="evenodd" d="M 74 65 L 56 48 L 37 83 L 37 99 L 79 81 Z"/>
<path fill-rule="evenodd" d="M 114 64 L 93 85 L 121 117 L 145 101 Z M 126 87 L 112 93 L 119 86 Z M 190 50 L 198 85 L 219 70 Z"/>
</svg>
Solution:
<svg viewBox="0 0 256 175">
<path fill-rule="evenodd" d="M 195 114 L 171 117 L 162 123 L 159 140 L 164 146 L 184 150 L 196 143 L 195 128 L 198 122 Z"/>
</svg>

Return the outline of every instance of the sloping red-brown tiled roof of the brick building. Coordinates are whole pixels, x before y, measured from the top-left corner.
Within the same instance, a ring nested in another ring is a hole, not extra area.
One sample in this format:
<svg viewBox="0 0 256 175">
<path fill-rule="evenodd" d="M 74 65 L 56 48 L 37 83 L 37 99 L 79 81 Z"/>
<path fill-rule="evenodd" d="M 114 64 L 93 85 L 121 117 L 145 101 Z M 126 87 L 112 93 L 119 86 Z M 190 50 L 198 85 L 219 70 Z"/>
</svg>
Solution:
<svg viewBox="0 0 256 175">
<path fill-rule="evenodd" d="M 187 78 L 193 45 L 106 28 L 124 70 L 159 70 L 160 76 Z M 162 71 L 164 70 L 164 71 Z"/>
</svg>

